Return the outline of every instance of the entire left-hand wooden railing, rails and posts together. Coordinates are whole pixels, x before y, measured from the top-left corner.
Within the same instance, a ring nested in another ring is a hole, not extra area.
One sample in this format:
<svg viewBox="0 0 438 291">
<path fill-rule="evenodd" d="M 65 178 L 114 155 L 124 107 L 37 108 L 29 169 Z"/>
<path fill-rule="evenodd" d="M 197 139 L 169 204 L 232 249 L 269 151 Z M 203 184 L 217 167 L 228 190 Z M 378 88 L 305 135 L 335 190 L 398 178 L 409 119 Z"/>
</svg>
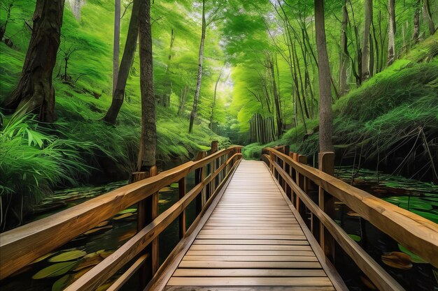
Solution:
<svg viewBox="0 0 438 291">
<path fill-rule="evenodd" d="M 160 266 L 157 259 L 158 248 L 151 247 L 151 243 L 156 241 L 158 235 L 178 217 L 180 218 L 179 234 L 182 239 L 186 233 L 185 208 L 188 204 L 195 200 L 196 214 L 197 216 L 201 214 L 239 164 L 241 147 L 234 146 L 217 151 L 217 143 L 212 143 L 212 145 L 213 149 L 209 156 L 206 156 L 206 152 L 202 152 L 195 161 L 123 186 L 47 218 L 17 227 L 15 230 L 4 232 L 0 237 L 0 279 L 6 278 L 36 258 L 66 244 L 132 204 L 148 200 L 149 202 L 143 204 L 147 205 L 152 202 L 153 205 L 149 209 L 157 209 L 158 191 L 169 184 L 178 182 L 180 193 L 178 202 L 156 217 L 148 213 L 140 215 L 140 203 L 139 219 L 145 220 L 151 216 L 153 219 L 147 224 L 139 221 L 139 225 L 143 223 L 144 227 L 141 227 L 134 237 L 66 290 L 94 290 L 132 260 L 134 263 L 108 290 L 118 290 L 139 268 L 146 267 L 146 270 L 153 275 Z M 195 171 L 196 185 L 186 193 L 185 177 L 192 171 Z M 198 218 L 190 228 L 196 226 Z M 143 282 L 145 285 L 146 283 Z"/>
</svg>

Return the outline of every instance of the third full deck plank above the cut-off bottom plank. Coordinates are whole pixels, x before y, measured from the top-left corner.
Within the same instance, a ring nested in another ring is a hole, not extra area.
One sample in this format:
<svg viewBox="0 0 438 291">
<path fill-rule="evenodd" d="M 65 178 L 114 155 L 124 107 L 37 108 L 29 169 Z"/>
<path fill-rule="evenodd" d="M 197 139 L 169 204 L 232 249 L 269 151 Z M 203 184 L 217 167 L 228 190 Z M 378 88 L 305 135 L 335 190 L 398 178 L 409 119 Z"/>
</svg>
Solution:
<svg viewBox="0 0 438 291">
<path fill-rule="evenodd" d="M 179 268 L 269 268 L 269 269 L 320 269 L 319 262 L 227 262 L 227 261 L 189 261 L 182 260 Z"/>
</svg>

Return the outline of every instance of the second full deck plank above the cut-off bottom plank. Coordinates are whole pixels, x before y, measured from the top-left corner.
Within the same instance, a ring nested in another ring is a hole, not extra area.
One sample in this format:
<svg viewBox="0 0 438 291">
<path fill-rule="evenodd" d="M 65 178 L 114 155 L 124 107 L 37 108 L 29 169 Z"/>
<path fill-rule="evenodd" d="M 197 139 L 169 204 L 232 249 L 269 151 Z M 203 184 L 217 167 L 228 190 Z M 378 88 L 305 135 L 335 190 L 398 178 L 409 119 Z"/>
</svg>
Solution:
<svg viewBox="0 0 438 291">
<path fill-rule="evenodd" d="M 326 277 L 323 269 L 176 269 L 174 277 Z"/>
</svg>

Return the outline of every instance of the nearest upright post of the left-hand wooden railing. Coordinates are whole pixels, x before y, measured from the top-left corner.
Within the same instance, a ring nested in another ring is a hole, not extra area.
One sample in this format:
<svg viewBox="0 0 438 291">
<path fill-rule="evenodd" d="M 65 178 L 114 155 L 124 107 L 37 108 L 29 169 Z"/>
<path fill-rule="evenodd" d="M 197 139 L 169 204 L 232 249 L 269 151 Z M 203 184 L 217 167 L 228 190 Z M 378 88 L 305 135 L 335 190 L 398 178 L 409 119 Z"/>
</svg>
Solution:
<svg viewBox="0 0 438 291">
<path fill-rule="evenodd" d="M 142 179 L 156 176 L 158 168 L 156 165 L 150 167 L 149 172 L 134 172 L 132 173 L 131 181 L 134 183 Z M 158 201 L 160 200 L 159 193 L 153 193 L 148 198 L 139 202 L 137 208 L 137 231 L 142 230 L 146 225 L 151 223 L 158 216 Z M 160 267 L 158 237 L 154 239 L 146 248 L 145 253 L 149 253 L 149 258 L 139 270 L 139 288 L 143 290 L 146 284 Z"/>
</svg>

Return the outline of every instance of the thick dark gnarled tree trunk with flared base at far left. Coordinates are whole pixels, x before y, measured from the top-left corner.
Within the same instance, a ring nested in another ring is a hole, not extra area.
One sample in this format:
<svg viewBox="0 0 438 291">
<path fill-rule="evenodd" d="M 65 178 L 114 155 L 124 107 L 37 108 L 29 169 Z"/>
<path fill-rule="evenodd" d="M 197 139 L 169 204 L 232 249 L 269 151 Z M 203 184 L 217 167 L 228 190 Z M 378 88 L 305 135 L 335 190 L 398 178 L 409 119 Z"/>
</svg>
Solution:
<svg viewBox="0 0 438 291">
<path fill-rule="evenodd" d="M 6 109 L 26 106 L 37 112 L 38 120 L 52 122 L 55 115 L 55 89 L 52 73 L 60 43 L 64 0 L 38 0 L 34 27 L 17 89 L 3 103 Z"/>
</svg>

